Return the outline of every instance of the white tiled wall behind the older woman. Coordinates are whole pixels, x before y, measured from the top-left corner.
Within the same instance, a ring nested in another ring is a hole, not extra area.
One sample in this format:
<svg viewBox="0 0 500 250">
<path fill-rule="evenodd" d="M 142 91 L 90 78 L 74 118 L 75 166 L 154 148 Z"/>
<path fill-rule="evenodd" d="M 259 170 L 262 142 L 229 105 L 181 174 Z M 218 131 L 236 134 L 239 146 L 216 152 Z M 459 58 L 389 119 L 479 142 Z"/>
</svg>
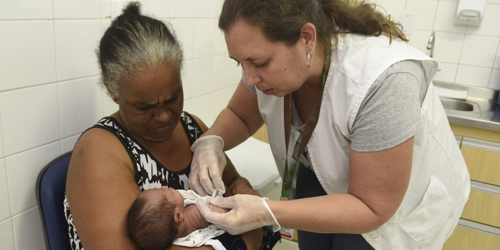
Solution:
<svg viewBox="0 0 500 250">
<path fill-rule="evenodd" d="M 142 0 L 184 49 L 184 110 L 208 126 L 240 78 L 217 17 L 222 0 Z M 1 249 L 39 249 L 35 200 L 40 169 L 117 105 L 98 85 L 94 50 L 111 0 L 0 0 Z"/>
</svg>

